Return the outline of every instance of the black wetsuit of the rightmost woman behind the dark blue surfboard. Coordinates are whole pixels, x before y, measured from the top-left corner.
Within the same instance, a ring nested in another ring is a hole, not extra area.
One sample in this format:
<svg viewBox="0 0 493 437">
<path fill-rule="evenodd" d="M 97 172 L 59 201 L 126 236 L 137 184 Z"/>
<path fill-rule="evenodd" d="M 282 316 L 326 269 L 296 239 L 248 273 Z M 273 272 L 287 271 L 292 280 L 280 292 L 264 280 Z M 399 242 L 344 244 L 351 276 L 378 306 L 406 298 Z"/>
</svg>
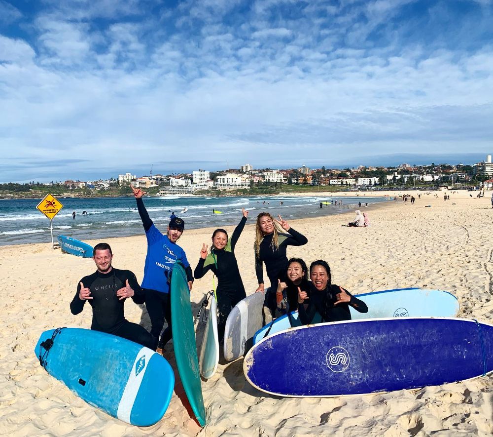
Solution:
<svg viewBox="0 0 493 437">
<path fill-rule="evenodd" d="M 351 320 L 351 313 L 349 311 L 350 305 L 360 313 L 368 312 L 366 304 L 355 298 L 348 290 L 345 291 L 351 296 L 351 301 L 334 306 L 336 295 L 341 292 L 339 285 L 330 285 L 328 290 L 318 291 L 313 283 L 310 282 L 310 284 L 311 293 L 310 300 L 308 301 L 308 308 L 305 310 L 305 306 L 301 304 L 298 307 L 299 319 L 304 325 L 312 322 L 317 311 L 322 316 L 322 322 Z"/>
</svg>

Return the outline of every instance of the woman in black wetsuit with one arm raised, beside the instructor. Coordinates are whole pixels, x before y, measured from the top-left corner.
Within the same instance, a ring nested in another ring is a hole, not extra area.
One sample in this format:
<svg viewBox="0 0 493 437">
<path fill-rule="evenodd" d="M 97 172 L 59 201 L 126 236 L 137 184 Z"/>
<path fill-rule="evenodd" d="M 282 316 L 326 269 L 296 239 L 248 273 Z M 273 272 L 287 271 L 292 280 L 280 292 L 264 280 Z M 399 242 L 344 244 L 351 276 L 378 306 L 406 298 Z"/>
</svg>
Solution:
<svg viewBox="0 0 493 437">
<path fill-rule="evenodd" d="M 202 278 L 209 270 L 217 277 L 217 310 L 219 319 L 217 321 L 217 333 L 219 341 L 224 337 L 226 319 L 232 308 L 246 298 L 238 262 L 235 256 L 235 246 L 245 228 L 248 211 L 242 208 L 243 217 L 233 231 L 231 239 L 224 229 L 216 229 L 212 233 L 212 245 L 210 253 L 207 252 L 207 244 L 202 244 L 200 258 L 193 272 L 195 279 Z"/>
</svg>

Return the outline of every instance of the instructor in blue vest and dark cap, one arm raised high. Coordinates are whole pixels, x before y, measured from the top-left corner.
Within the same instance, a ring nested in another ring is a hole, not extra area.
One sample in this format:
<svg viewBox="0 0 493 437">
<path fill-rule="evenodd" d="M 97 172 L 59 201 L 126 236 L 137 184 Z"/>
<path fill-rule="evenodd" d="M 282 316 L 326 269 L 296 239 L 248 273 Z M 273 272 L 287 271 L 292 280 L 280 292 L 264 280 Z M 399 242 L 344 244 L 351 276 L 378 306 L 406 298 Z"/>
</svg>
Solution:
<svg viewBox="0 0 493 437">
<path fill-rule="evenodd" d="M 185 251 L 176 244 L 185 229 L 185 222 L 179 217 L 171 219 L 166 234 L 154 226 L 145 209 L 142 196 L 145 194 L 141 189 L 132 187 L 137 209 L 141 216 L 142 224 L 147 238 L 147 255 L 145 256 L 144 278 L 142 288 L 145 292 L 145 307 L 151 319 L 151 335 L 155 337 L 155 345 L 159 353 L 172 336 L 171 328 L 171 302 L 170 302 L 170 278 L 168 277 L 176 261 L 185 267 L 188 281 L 188 288 L 192 289 L 193 276 L 192 269 L 185 255 Z M 164 321 L 168 326 L 164 330 L 161 339 L 159 334 L 164 326 Z M 159 340 L 159 341 L 158 341 Z"/>
</svg>

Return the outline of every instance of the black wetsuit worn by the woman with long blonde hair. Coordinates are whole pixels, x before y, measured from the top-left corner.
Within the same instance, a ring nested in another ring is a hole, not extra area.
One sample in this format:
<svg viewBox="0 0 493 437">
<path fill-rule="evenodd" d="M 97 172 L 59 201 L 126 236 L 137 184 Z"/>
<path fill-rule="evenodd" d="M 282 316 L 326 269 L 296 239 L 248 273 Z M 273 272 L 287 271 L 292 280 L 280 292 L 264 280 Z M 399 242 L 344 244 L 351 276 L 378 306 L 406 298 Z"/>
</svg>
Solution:
<svg viewBox="0 0 493 437">
<path fill-rule="evenodd" d="M 287 232 L 289 234 L 279 234 L 279 248 L 277 250 L 271 247 L 274 233 L 266 235 L 260 242 L 258 256 L 255 256 L 255 273 L 257 275 L 258 283 L 264 283 L 262 262 L 265 263 L 265 270 L 267 271 L 267 276 L 271 282 L 269 290 L 266 291 L 264 303 L 271 312 L 274 312 L 277 307 L 276 290 L 278 279 L 281 278 L 282 272 L 285 272 L 287 269 L 287 246 L 303 246 L 308 242 L 308 239 L 305 236 L 295 231 L 293 228 L 289 228 L 289 231 Z"/>
</svg>

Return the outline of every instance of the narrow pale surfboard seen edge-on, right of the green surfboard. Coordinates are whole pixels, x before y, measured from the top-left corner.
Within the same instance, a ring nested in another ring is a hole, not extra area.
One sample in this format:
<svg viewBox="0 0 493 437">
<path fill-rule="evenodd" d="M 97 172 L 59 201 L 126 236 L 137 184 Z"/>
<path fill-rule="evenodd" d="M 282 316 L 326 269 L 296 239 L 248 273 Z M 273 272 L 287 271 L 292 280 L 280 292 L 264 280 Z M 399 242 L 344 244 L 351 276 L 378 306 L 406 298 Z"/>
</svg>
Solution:
<svg viewBox="0 0 493 437">
<path fill-rule="evenodd" d="M 211 296 L 211 308 L 207 318 L 206 330 L 202 338 L 199 355 L 199 370 L 203 378 L 211 378 L 219 364 L 219 338 L 217 336 L 217 304 Z"/>
</svg>

